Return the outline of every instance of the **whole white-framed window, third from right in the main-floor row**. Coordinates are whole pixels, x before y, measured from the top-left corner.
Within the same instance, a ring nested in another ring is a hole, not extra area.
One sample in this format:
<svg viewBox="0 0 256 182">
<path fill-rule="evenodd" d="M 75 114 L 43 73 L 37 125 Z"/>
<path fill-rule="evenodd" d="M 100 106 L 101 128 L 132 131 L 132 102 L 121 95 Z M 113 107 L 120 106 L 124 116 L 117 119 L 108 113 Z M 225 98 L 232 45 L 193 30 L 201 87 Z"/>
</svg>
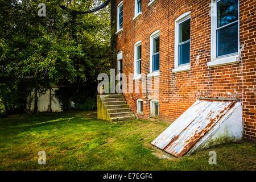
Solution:
<svg viewBox="0 0 256 182">
<path fill-rule="evenodd" d="M 160 57 L 160 30 L 155 31 L 150 36 L 150 73 L 159 75 L 159 57 Z M 149 74 L 148 76 L 156 76 Z"/>
</svg>

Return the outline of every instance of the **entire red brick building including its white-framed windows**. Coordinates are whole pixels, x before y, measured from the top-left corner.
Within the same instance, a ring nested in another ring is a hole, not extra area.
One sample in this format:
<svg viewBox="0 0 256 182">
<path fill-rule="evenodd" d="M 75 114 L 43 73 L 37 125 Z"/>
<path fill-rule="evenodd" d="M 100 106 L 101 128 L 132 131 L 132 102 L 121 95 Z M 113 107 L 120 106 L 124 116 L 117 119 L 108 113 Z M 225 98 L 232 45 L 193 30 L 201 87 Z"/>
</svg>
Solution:
<svg viewBox="0 0 256 182">
<path fill-rule="evenodd" d="M 124 96 L 139 118 L 173 122 L 199 97 L 240 98 L 243 136 L 256 140 L 256 1 L 117 0 L 112 9 L 117 60 L 134 89 Z M 159 78 L 158 98 L 143 92 L 143 74 Z"/>
</svg>

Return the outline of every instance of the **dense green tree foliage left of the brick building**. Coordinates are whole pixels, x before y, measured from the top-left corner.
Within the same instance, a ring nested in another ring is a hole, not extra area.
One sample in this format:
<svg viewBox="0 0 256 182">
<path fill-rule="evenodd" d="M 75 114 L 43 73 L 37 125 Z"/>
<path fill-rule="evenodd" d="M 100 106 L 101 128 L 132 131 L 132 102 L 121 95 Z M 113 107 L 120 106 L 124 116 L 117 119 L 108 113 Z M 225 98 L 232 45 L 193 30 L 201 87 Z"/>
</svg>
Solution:
<svg viewBox="0 0 256 182">
<path fill-rule="evenodd" d="M 46 17 L 40 18 L 42 2 Z M 109 69 L 109 7 L 74 16 L 59 6 L 84 11 L 102 2 L 0 2 L 0 98 L 7 114 L 24 110 L 32 90 L 40 96 L 53 86 L 71 86 L 76 88 L 72 94 L 77 94 L 81 86 L 95 85 L 98 73 Z"/>
</svg>

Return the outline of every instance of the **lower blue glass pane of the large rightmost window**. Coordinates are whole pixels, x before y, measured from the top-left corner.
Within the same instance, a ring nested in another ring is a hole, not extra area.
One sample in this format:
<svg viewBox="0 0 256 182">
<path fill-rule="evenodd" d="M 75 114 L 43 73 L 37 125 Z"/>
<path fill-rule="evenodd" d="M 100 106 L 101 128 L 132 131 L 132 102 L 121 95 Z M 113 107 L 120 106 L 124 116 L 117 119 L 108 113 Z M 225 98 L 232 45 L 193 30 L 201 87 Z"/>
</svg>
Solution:
<svg viewBox="0 0 256 182">
<path fill-rule="evenodd" d="M 217 30 L 218 56 L 238 52 L 238 24 Z"/>
</svg>

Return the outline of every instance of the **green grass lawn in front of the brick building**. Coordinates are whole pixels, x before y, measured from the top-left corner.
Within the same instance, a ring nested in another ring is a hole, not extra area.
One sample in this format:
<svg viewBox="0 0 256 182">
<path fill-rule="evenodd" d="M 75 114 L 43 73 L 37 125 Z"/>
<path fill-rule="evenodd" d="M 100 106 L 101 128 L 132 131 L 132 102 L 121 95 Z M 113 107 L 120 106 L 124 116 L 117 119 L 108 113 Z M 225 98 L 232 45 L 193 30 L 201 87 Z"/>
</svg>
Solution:
<svg viewBox="0 0 256 182">
<path fill-rule="evenodd" d="M 0 170 L 255 170 L 256 145 L 242 141 L 191 156 L 159 159 L 151 146 L 170 124 L 110 123 L 92 112 L 40 113 L 0 119 Z M 217 152 L 210 165 L 209 151 Z M 38 152 L 46 152 L 46 165 Z"/>
</svg>

